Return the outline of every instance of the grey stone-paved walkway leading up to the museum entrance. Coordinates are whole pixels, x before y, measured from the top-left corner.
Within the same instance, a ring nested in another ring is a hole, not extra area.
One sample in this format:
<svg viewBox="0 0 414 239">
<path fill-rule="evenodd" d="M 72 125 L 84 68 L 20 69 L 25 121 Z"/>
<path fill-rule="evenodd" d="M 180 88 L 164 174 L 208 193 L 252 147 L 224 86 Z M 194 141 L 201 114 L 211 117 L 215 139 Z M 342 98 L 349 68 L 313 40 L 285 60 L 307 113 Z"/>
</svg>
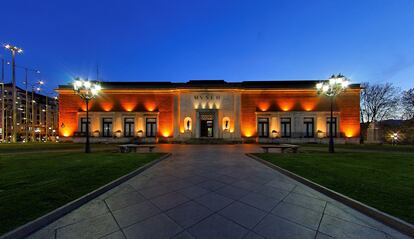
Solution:
<svg viewBox="0 0 414 239">
<path fill-rule="evenodd" d="M 157 151 L 172 156 L 28 238 L 409 238 L 245 156 L 255 145 Z"/>
</svg>

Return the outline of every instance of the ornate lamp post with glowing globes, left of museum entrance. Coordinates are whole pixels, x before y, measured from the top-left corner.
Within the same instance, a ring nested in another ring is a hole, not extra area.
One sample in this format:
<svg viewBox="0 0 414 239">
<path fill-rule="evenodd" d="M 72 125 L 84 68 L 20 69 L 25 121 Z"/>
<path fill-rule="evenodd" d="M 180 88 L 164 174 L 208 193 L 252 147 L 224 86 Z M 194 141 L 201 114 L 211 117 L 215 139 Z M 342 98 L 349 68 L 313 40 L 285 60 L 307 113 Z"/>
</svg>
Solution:
<svg viewBox="0 0 414 239">
<path fill-rule="evenodd" d="M 85 153 L 90 153 L 91 148 L 89 144 L 89 109 L 88 104 L 89 101 L 95 98 L 99 91 L 101 90 L 101 86 L 91 82 L 89 80 L 82 80 L 81 78 L 77 78 L 73 83 L 73 90 L 79 97 L 85 101 L 86 104 L 86 144 L 85 144 Z"/>
</svg>

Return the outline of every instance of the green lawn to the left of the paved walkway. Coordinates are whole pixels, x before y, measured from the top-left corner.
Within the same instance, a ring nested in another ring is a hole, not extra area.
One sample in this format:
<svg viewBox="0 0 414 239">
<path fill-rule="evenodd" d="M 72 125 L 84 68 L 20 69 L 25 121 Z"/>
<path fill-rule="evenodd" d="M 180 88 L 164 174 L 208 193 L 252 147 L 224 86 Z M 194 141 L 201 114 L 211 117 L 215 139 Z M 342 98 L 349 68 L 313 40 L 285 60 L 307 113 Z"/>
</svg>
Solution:
<svg viewBox="0 0 414 239">
<path fill-rule="evenodd" d="M 0 235 L 161 155 L 111 152 L 0 155 Z"/>
</svg>

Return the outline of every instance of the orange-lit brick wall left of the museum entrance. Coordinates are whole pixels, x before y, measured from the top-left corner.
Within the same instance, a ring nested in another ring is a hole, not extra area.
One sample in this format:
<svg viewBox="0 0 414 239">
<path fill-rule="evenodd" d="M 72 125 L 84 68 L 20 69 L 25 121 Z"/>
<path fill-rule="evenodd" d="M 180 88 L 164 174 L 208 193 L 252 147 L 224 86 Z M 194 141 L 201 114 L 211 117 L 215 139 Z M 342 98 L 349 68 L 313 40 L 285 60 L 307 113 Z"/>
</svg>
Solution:
<svg viewBox="0 0 414 239">
<path fill-rule="evenodd" d="M 159 112 L 159 135 L 173 133 L 173 94 L 169 93 L 103 93 L 90 102 L 91 112 Z M 73 94 L 59 95 L 59 128 L 61 136 L 73 136 L 78 130 L 77 113 L 85 111 L 85 104 Z"/>
</svg>

